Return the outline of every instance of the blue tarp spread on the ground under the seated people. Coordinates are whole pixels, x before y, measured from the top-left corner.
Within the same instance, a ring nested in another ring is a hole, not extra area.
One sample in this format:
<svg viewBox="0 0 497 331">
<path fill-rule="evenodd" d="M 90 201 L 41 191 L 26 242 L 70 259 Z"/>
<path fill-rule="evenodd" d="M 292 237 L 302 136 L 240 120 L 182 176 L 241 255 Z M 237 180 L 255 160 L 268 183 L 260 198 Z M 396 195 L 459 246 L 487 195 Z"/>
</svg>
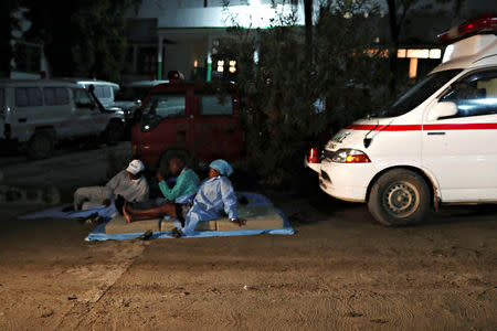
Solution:
<svg viewBox="0 0 497 331">
<path fill-rule="evenodd" d="M 240 197 L 245 197 L 247 200 L 248 206 L 256 205 L 272 205 L 269 199 L 266 196 L 253 193 L 253 192 L 236 192 L 236 195 Z M 110 221 L 110 218 L 116 213 L 116 209 L 114 205 L 108 207 L 102 205 L 95 209 L 80 211 L 80 212 L 64 212 L 66 207 L 71 206 L 71 204 L 56 206 L 53 209 L 49 209 L 45 211 L 28 214 L 20 216 L 20 220 L 31 220 L 31 218 L 75 218 L 75 217 L 87 217 L 94 213 L 97 213 L 99 216 L 107 218 L 106 222 L 101 223 L 94 231 L 85 238 L 85 241 L 127 241 L 127 239 L 136 239 L 140 237 L 144 233 L 124 233 L 124 234 L 106 234 L 105 225 Z M 277 234 L 277 235 L 293 235 L 295 233 L 294 228 L 288 222 L 288 218 L 285 214 L 277 210 L 279 215 L 285 221 L 285 226 L 283 228 L 268 228 L 268 229 L 243 229 L 241 227 L 236 231 L 198 231 L 191 235 L 184 236 L 188 238 L 201 238 L 201 237 L 228 237 L 228 236 L 248 236 L 248 235 L 258 235 L 258 234 Z M 172 238 L 171 232 L 155 232 L 151 238 Z"/>
</svg>

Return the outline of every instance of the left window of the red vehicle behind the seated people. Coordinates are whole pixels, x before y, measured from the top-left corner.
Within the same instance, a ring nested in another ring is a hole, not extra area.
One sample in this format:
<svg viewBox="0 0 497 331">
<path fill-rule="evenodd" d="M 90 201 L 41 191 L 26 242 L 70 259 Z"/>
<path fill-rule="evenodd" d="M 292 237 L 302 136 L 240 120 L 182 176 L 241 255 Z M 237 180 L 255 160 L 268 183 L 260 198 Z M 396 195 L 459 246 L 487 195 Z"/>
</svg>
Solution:
<svg viewBox="0 0 497 331">
<path fill-rule="evenodd" d="M 184 95 L 152 95 L 144 107 L 144 115 L 178 117 L 186 115 Z"/>
</svg>

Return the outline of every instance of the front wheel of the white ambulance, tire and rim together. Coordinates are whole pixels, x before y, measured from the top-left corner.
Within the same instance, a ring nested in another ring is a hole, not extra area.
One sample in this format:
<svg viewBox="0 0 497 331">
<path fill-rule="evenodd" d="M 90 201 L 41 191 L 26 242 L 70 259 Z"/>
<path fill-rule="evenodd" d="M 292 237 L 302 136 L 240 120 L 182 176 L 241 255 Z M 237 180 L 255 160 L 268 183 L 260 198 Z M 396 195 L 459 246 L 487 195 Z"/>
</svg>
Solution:
<svg viewBox="0 0 497 331">
<path fill-rule="evenodd" d="M 383 225 L 408 225 L 423 221 L 430 207 L 430 189 L 417 173 L 395 169 L 381 175 L 371 188 L 368 209 Z"/>
</svg>

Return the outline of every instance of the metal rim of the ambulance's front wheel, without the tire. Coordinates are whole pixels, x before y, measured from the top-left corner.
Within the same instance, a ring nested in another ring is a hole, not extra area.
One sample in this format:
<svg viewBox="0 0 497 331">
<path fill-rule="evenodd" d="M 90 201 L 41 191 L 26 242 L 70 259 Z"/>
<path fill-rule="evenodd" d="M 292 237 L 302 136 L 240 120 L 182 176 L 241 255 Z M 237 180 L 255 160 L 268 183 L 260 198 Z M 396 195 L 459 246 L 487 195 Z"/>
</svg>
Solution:
<svg viewBox="0 0 497 331">
<path fill-rule="evenodd" d="M 387 209 L 398 217 L 410 216 L 417 207 L 417 191 L 409 183 L 393 183 L 384 193 Z"/>
</svg>

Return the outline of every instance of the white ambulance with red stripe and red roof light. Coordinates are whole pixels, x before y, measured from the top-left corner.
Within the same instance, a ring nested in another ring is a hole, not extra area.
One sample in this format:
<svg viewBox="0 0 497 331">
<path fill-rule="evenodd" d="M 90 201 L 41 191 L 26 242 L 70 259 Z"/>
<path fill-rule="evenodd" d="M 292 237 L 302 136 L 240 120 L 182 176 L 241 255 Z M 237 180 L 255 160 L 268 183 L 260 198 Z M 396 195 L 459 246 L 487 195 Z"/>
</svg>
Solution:
<svg viewBox="0 0 497 331">
<path fill-rule="evenodd" d="M 340 130 L 305 164 L 329 195 L 366 202 L 384 225 L 430 206 L 497 203 L 497 14 L 440 40 L 442 64 L 392 106 Z M 464 38 L 467 35 L 466 38 Z"/>
</svg>

